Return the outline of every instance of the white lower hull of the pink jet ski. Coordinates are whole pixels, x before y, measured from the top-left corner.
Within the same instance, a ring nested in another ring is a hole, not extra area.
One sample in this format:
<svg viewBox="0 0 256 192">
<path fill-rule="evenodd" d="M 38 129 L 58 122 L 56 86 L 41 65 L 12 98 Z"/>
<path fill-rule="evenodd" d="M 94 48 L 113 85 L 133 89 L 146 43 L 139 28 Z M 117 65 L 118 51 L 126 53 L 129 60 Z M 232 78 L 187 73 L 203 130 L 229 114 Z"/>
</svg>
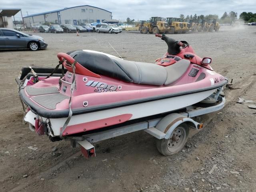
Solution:
<svg viewBox="0 0 256 192">
<path fill-rule="evenodd" d="M 138 119 L 146 116 L 152 116 L 156 114 L 170 112 L 170 111 L 185 108 L 192 104 L 198 103 L 204 100 L 205 98 L 207 98 L 208 96 L 210 96 L 215 91 L 216 89 L 208 90 L 205 92 L 199 92 L 194 94 L 187 94 L 183 96 L 162 99 L 162 100 L 156 100 L 152 102 L 134 104 L 134 105 L 124 106 L 120 108 L 113 108 L 113 109 L 108 109 L 103 111 L 75 115 L 75 116 L 72 116 L 68 125 L 70 126 L 70 125 L 81 124 L 85 122 L 91 122 L 95 120 L 101 120 L 104 118 L 110 118 L 110 117 L 118 116 L 121 114 L 132 114 L 132 117 L 130 120 L 133 120 L 133 119 Z M 34 120 L 35 117 L 36 115 L 33 112 L 29 111 L 26 114 L 24 120 L 27 122 L 30 122 L 32 125 L 35 125 L 35 120 Z M 66 119 L 67 118 L 50 119 L 54 136 L 60 135 L 60 128 L 63 127 Z M 43 118 L 43 120 L 46 120 L 46 119 Z"/>
</svg>

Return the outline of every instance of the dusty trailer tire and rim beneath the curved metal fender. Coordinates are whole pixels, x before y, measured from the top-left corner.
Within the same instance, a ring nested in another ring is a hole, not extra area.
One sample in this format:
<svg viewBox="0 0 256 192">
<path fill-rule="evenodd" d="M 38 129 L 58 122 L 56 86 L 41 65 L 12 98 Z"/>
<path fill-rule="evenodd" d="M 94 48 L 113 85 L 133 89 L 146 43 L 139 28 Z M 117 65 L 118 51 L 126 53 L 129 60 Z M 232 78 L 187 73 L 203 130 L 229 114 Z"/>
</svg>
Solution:
<svg viewBox="0 0 256 192">
<path fill-rule="evenodd" d="M 186 123 L 178 125 L 172 132 L 169 139 L 161 139 L 156 142 L 158 151 L 164 156 L 178 153 L 186 144 L 189 128 Z"/>
</svg>

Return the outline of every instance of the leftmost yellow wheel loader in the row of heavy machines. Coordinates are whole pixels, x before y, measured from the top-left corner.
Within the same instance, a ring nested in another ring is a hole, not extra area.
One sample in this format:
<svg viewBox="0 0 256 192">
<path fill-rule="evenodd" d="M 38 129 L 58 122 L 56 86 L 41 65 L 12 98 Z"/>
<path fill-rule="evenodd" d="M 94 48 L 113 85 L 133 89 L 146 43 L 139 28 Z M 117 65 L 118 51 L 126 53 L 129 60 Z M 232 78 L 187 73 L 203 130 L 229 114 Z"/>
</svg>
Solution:
<svg viewBox="0 0 256 192">
<path fill-rule="evenodd" d="M 157 33 L 169 33 L 170 28 L 168 23 L 162 21 L 161 17 L 152 17 L 150 22 L 143 22 L 140 25 L 140 33 L 143 34 L 157 34 Z"/>
</svg>

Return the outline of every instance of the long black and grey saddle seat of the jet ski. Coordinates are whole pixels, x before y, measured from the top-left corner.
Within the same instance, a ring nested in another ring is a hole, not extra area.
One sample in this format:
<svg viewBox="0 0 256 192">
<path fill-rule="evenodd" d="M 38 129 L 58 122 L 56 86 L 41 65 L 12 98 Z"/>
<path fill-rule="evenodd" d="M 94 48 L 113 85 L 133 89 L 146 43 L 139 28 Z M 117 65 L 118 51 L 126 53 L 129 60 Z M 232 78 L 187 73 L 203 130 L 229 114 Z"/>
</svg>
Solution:
<svg viewBox="0 0 256 192">
<path fill-rule="evenodd" d="M 104 54 L 82 50 L 68 52 L 88 70 L 136 84 L 162 86 L 178 80 L 186 72 L 190 61 L 182 59 L 170 66 L 110 58 Z"/>
</svg>

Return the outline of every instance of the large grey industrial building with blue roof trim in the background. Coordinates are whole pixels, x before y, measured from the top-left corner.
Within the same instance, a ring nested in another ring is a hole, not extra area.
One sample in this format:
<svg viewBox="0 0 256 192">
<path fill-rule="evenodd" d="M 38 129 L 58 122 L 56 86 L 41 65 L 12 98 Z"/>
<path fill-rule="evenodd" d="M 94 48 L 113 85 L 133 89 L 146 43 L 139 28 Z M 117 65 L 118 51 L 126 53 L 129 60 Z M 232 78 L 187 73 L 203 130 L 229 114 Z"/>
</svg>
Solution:
<svg viewBox="0 0 256 192">
<path fill-rule="evenodd" d="M 81 23 L 102 22 L 103 20 L 111 20 L 112 12 L 102 8 L 84 5 L 64 8 L 44 13 L 32 14 L 23 17 L 26 27 L 34 24 L 72 24 L 79 25 Z"/>
</svg>

